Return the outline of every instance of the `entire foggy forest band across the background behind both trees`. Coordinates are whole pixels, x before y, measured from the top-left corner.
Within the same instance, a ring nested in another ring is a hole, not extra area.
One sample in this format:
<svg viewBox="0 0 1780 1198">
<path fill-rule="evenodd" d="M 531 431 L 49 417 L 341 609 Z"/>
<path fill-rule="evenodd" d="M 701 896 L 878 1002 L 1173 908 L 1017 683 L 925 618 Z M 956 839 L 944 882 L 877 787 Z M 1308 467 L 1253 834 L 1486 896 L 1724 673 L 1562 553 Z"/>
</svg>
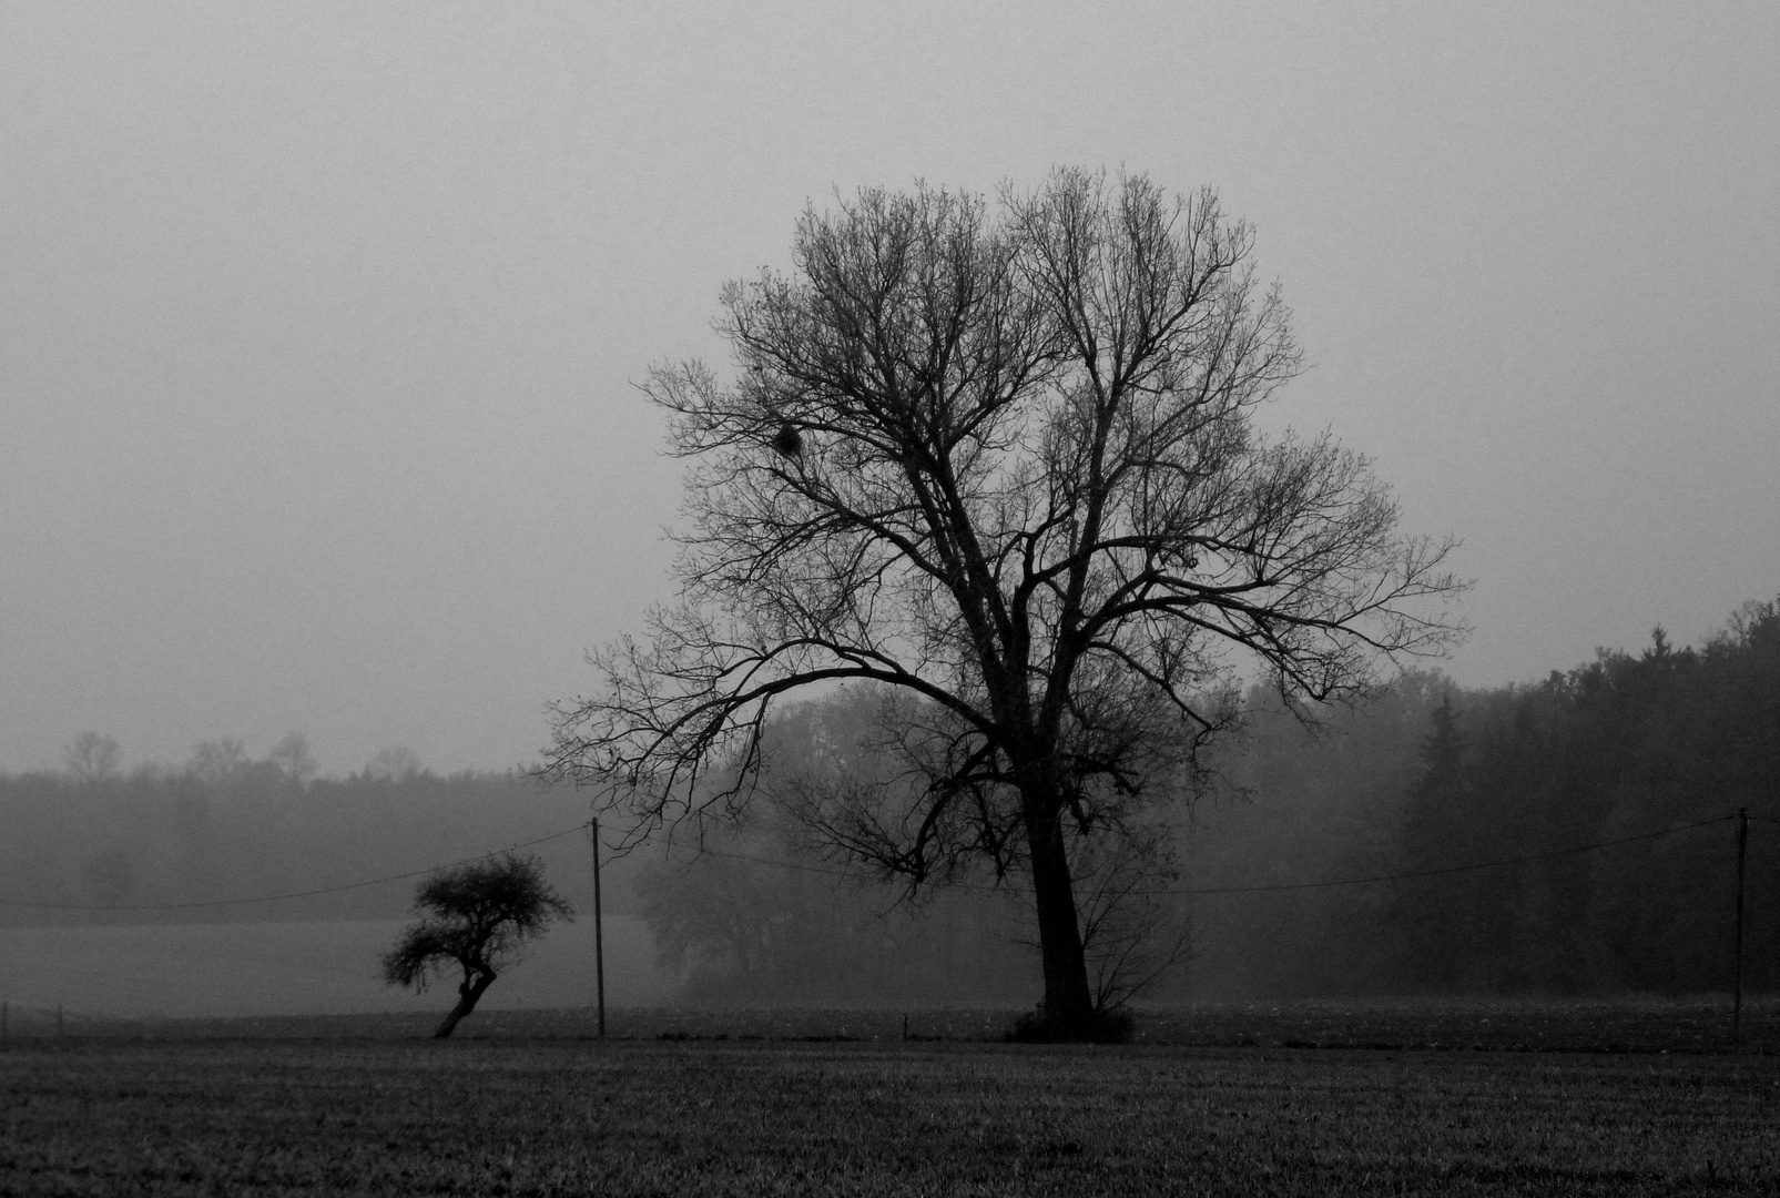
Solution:
<svg viewBox="0 0 1780 1198">
<path fill-rule="evenodd" d="M 1541 682 L 1408 671 L 1355 705 L 1290 712 L 1253 687 L 1242 707 L 1210 785 L 1168 808 L 1166 860 L 1089 945 L 1114 1000 L 1725 990 L 1739 808 L 1755 817 L 1746 984 L 1780 983 L 1775 602 L 1698 646 L 1659 628 Z M 824 758 L 869 764 L 869 708 L 837 691 L 778 717 L 764 794 Z M 518 767 L 438 776 L 390 751 L 313 776 L 301 737 L 262 758 L 228 737 L 176 767 L 116 758 L 82 733 L 62 771 L 0 774 L 5 926 L 395 919 L 408 885 L 333 888 L 586 819 L 571 787 Z M 586 908 L 586 838 L 539 853 Z M 1018 879 L 954 881 L 911 895 L 767 803 L 703 844 L 609 860 L 607 904 L 648 927 L 685 1004 L 1031 1002 Z M 157 910 L 301 892 L 326 894 Z"/>
</svg>

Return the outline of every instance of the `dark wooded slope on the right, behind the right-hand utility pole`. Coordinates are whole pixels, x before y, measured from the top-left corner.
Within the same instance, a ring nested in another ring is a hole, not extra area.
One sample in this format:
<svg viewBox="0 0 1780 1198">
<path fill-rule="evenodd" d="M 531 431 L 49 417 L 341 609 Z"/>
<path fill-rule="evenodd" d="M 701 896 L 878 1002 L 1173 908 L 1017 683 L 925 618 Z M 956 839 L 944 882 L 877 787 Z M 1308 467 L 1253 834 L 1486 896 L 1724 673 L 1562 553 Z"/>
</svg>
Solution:
<svg viewBox="0 0 1780 1198">
<path fill-rule="evenodd" d="M 1780 611 L 1700 648 L 1661 630 L 1536 685 L 1412 675 L 1321 737 L 1251 724 L 1202 806 L 1194 886 L 1447 870 L 1728 815 L 1780 819 Z M 1497 869 L 1194 899 L 1209 995 L 1725 990 L 1736 822 Z M 1780 986 L 1780 822 L 1753 821 L 1746 984 Z"/>
</svg>

